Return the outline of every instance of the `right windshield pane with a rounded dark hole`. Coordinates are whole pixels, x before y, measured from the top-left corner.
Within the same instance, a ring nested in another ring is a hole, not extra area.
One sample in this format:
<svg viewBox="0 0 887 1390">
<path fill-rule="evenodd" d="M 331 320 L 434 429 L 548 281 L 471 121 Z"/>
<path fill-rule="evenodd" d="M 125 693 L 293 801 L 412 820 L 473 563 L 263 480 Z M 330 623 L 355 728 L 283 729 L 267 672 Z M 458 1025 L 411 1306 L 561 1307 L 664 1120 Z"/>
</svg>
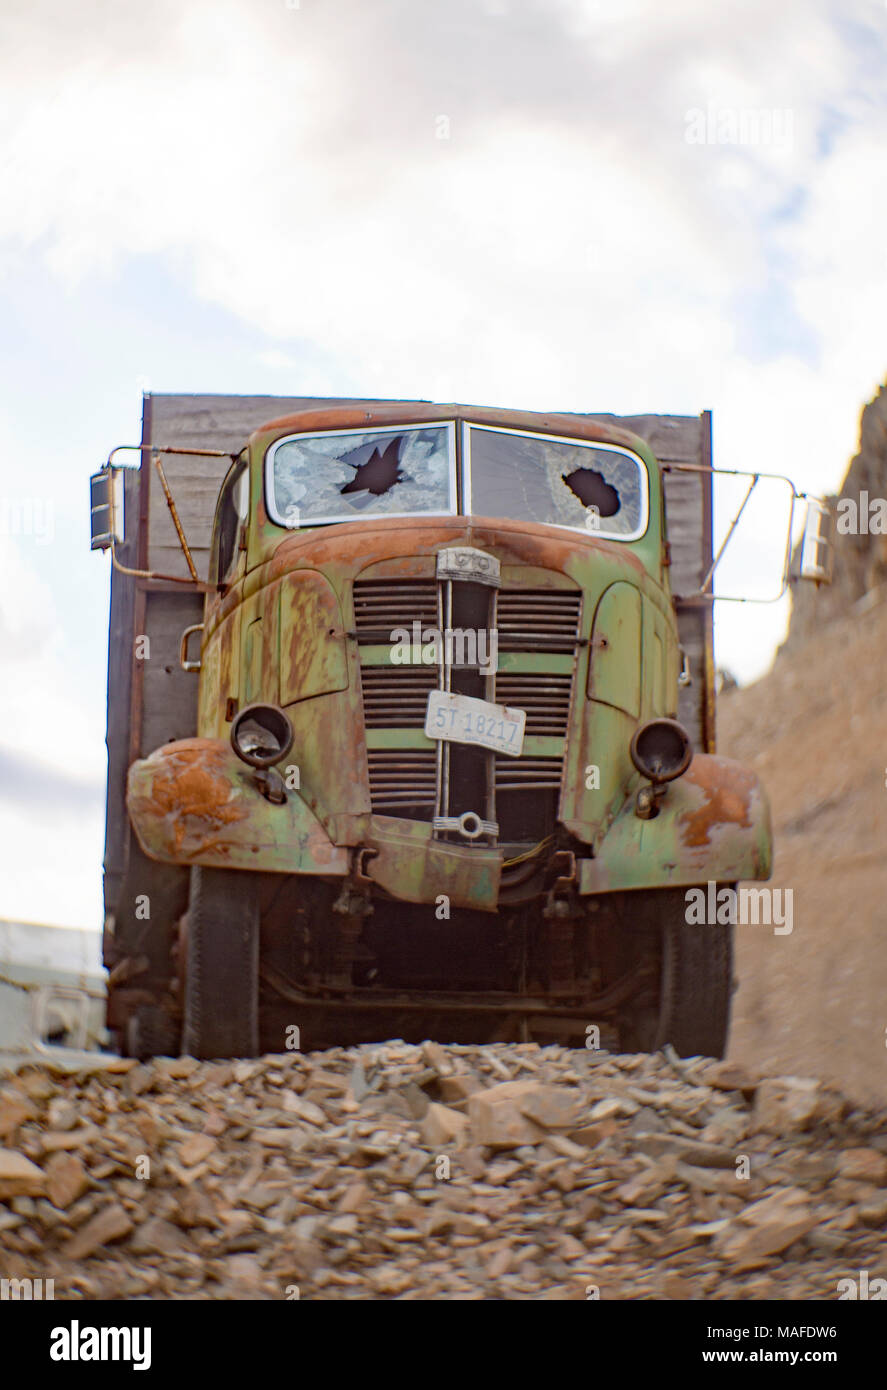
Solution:
<svg viewBox="0 0 887 1390">
<path fill-rule="evenodd" d="M 542 521 L 634 541 L 646 530 L 646 474 L 627 450 L 556 435 L 467 427 L 474 516 Z"/>
</svg>

